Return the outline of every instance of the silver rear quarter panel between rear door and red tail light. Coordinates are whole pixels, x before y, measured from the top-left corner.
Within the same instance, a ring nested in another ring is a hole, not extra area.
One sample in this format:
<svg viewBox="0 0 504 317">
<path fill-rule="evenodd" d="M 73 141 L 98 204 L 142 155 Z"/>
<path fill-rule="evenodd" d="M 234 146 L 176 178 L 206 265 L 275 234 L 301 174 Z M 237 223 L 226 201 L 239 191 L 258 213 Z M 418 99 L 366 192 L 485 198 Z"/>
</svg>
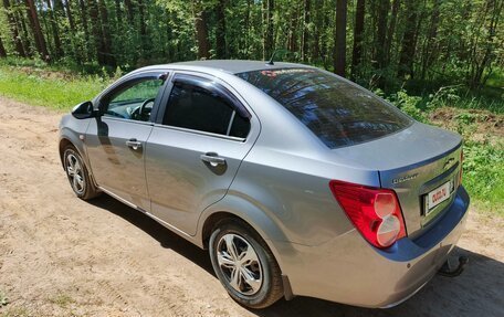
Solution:
<svg viewBox="0 0 504 317">
<path fill-rule="evenodd" d="M 329 189 L 330 179 L 369 186 L 378 176 L 270 148 L 254 147 L 242 162 L 228 196 L 240 197 L 281 230 L 266 232 L 304 245 L 318 245 L 354 229 Z"/>
</svg>

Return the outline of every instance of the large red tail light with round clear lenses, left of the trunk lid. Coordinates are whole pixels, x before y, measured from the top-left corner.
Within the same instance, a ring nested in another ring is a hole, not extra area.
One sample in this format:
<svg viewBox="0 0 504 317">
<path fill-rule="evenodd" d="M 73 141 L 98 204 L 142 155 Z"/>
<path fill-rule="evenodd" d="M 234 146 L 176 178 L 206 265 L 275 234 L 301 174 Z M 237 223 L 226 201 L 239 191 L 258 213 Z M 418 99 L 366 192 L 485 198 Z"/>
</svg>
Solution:
<svg viewBox="0 0 504 317">
<path fill-rule="evenodd" d="M 385 249 L 406 236 L 405 220 L 396 192 L 332 180 L 330 190 L 360 234 Z"/>
</svg>

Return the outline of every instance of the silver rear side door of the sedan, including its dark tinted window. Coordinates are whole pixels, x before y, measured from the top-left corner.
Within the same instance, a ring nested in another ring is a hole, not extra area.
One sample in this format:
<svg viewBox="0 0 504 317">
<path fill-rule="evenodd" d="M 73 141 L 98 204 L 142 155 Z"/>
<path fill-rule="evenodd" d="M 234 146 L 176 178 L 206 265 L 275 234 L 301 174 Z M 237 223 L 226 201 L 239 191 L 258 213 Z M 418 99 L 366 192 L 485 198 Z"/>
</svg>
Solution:
<svg viewBox="0 0 504 317">
<path fill-rule="evenodd" d="M 147 144 L 151 214 L 193 235 L 200 213 L 227 193 L 259 120 L 217 78 L 178 73 L 170 85 Z"/>
</svg>

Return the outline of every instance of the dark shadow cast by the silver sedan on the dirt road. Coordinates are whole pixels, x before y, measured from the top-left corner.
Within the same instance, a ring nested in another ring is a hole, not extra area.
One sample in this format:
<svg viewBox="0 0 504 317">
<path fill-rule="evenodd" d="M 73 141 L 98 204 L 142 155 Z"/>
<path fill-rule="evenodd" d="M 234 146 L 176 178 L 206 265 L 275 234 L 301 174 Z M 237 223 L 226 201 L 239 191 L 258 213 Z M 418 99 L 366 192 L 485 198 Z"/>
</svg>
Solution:
<svg viewBox="0 0 504 317">
<path fill-rule="evenodd" d="M 92 203 L 125 219 L 156 239 L 161 246 L 171 249 L 216 276 L 207 251 L 178 236 L 149 216 L 105 194 Z M 295 297 L 288 302 L 281 299 L 272 307 L 251 313 L 261 317 L 504 316 L 504 263 L 460 247 L 456 247 L 454 253 L 470 260 L 462 275 L 453 278 L 437 275 L 412 298 L 393 308 L 359 308 L 316 298 Z"/>
</svg>

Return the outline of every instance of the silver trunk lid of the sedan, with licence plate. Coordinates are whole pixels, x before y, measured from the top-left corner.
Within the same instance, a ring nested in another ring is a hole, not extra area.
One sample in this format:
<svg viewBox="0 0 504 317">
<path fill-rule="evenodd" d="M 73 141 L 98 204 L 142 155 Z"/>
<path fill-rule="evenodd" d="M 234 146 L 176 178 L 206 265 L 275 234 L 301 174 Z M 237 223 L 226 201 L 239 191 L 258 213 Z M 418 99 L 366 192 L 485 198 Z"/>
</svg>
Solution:
<svg viewBox="0 0 504 317">
<path fill-rule="evenodd" d="M 412 239 L 447 210 L 459 187 L 461 137 L 420 123 L 333 152 L 347 163 L 379 172 L 381 187 L 396 191 Z"/>
</svg>

